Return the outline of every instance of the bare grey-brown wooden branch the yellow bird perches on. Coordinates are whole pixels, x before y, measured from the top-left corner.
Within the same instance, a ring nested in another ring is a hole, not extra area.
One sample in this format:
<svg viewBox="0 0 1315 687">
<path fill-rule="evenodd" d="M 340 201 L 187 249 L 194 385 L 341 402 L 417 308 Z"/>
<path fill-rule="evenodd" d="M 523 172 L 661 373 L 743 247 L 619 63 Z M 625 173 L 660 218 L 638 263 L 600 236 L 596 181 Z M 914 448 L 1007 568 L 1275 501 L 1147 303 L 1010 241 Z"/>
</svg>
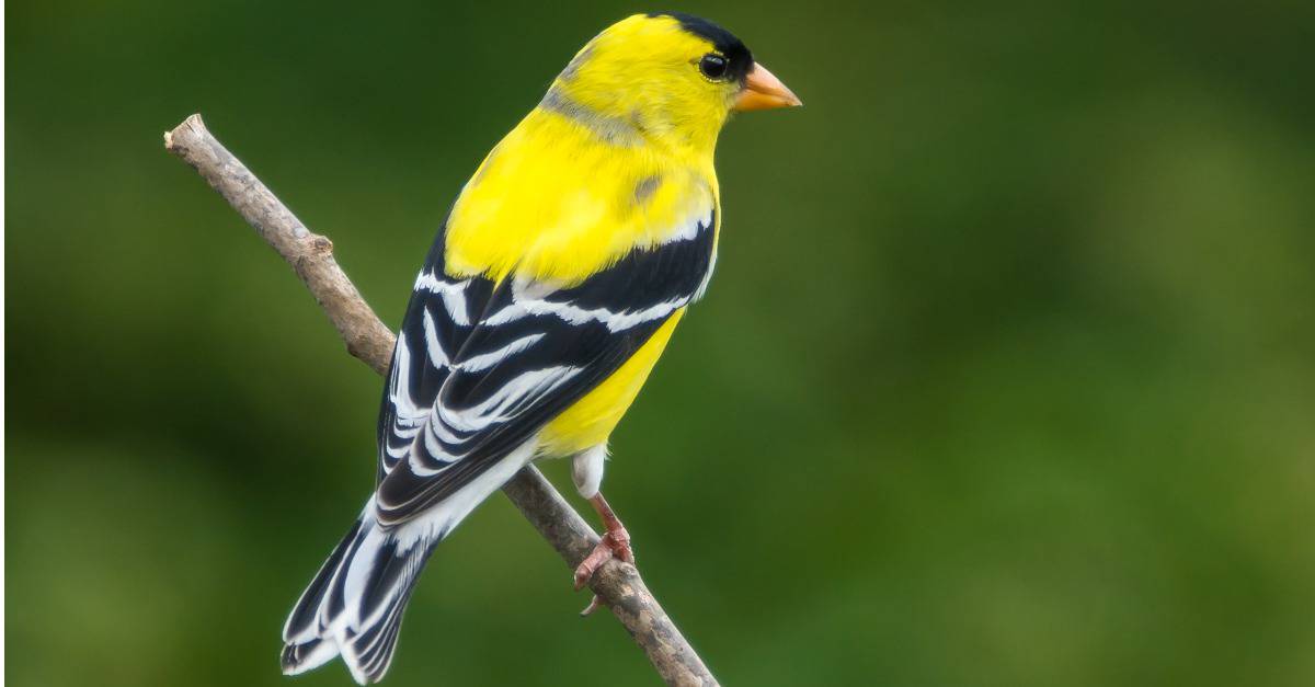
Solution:
<svg viewBox="0 0 1315 687">
<path fill-rule="evenodd" d="M 347 351 L 388 374 L 393 333 L 360 297 L 333 257 L 333 243 L 312 233 L 192 114 L 164 134 L 164 147 L 191 165 L 288 262 L 314 295 Z M 598 534 L 547 479 L 529 466 L 502 487 L 512 503 L 573 570 Z M 563 578 L 563 580 L 569 578 Z M 634 637 L 668 684 L 715 686 L 717 679 L 644 586 L 635 566 L 611 559 L 589 588 Z"/>
</svg>

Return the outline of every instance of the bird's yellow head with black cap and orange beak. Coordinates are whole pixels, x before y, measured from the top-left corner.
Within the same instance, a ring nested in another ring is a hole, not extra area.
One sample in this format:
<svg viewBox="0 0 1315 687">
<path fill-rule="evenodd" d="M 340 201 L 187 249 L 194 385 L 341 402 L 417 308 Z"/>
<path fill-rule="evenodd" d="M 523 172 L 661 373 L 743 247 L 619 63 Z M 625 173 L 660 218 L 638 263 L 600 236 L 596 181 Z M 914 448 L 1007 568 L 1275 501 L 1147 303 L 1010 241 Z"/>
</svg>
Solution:
<svg viewBox="0 0 1315 687">
<path fill-rule="evenodd" d="M 681 13 L 635 14 L 589 41 L 552 82 L 544 108 L 623 140 L 711 153 L 734 111 L 801 105 L 726 29 Z"/>
</svg>

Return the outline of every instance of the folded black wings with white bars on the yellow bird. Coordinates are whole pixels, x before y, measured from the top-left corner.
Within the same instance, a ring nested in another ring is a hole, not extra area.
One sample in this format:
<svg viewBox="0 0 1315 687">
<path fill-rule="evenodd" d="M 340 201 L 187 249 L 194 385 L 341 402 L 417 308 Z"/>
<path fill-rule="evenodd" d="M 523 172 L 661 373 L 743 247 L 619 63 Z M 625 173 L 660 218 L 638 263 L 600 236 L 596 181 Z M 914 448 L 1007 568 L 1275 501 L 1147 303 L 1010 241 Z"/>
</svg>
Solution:
<svg viewBox="0 0 1315 687">
<path fill-rule="evenodd" d="M 707 215 L 569 288 L 493 288 L 426 267 L 380 415 L 380 521 L 406 521 L 469 484 L 621 367 L 706 286 L 714 226 Z M 427 265 L 441 265 L 435 250 Z"/>
</svg>

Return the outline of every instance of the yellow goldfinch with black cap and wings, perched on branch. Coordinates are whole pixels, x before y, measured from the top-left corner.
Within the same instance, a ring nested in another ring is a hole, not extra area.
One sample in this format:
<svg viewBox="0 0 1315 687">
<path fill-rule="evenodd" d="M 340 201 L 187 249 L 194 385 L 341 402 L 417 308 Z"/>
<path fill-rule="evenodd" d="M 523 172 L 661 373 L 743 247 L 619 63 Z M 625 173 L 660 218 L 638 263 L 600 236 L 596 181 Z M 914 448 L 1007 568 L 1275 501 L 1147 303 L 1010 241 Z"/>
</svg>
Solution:
<svg viewBox="0 0 1315 687">
<path fill-rule="evenodd" d="M 717 262 L 713 165 L 734 112 L 802 105 L 748 47 L 684 13 L 590 39 L 462 188 L 410 295 L 375 488 L 283 628 L 285 674 L 388 671 L 434 547 L 540 458 L 569 458 L 606 532 L 576 588 L 634 562 L 600 486 L 608 440 Z M 590 603 L 594 608 L 597 599 Z"/>
</svg>

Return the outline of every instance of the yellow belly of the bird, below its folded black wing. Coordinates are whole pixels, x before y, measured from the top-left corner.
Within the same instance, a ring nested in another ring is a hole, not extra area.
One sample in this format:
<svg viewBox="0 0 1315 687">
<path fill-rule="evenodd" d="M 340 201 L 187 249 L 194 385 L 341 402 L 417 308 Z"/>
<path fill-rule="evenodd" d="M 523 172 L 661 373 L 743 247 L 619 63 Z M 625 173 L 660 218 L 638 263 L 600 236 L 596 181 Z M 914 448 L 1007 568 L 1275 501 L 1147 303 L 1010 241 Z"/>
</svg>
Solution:
<svg viewBox="0 0 1315 687">
<path fill-rule="evenodd" d="M 639 395 L 682 315 L 684 308 L 673 312 L 611 376 L 544 425 L 539 434 L 539 453 L 569 455 L 608 441 Z"/>
</svg>

